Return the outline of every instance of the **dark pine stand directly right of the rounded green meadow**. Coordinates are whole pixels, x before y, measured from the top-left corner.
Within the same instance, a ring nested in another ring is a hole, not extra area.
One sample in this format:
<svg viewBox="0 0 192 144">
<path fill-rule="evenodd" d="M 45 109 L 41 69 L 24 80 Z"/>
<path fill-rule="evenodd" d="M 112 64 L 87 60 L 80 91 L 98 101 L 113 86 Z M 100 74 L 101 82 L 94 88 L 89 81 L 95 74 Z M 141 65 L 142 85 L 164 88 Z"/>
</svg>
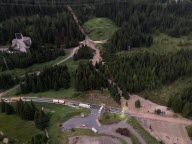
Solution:
<svg viewBox="0 0 192 144">
<path fill-rule="evenodd" d="M 146 32 L 139 21 L 124 23 L 105 45 L 107 52 L 130 50 L 133 47 L 151 46 L 153 37 Z"/>
</svg>

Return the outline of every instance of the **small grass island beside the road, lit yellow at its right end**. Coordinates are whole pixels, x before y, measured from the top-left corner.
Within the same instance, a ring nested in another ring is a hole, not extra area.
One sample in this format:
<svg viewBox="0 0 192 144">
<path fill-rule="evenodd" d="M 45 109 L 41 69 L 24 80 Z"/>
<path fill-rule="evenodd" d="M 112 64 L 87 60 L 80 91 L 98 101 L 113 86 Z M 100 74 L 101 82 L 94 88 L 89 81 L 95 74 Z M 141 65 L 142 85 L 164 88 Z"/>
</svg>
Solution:
<svg viewBox="0 0 192 144">
<path fill-rule="evenodd" d="M 110 125 L 114 123 L 118 123 L 126 118 L 124 114 L 116 114 L 116 113 L 103 113 L 99 121 L 103 125 Z"/>
</svg>

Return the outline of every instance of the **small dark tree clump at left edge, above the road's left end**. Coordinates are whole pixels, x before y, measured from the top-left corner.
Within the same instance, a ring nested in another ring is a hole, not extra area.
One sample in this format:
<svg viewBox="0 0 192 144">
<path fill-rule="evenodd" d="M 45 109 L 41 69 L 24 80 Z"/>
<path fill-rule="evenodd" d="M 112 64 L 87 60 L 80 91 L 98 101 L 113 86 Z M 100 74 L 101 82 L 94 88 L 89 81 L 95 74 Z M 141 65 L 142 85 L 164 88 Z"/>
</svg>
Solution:
<svg viewBox="0 0 192 144">
<path fill-rule="evenodd" d="M 9 89 L 18 82 L 17 78 L 13 78 L 10 74 L 0 75 L 0 89 Z"/>
</svg>

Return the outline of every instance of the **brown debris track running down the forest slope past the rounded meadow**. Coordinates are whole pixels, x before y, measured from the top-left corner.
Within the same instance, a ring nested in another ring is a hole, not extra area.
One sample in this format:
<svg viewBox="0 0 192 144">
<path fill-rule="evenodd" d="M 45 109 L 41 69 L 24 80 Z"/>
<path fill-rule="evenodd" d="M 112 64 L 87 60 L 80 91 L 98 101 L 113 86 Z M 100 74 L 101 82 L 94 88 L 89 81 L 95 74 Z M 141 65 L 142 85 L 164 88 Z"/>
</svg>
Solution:
<svg viewBox="0 0 192 144">
<path fill-rule="evenodd" d="M 73 12 L 72 8 L 70 6 L 67 6 L 68 10 L 71 12 L 71 14 L 73 15 L 73 19 L 75 20 L 77 26 L 79 27 L 80 31 L 82 32 L 82 34 L 85 36 L 85 44 L 87 46 L 89 46 L 90 48 L 92 48 L 93 50 L 95 50 L 95 55 L 92 59 L 92 63 L 93 65 L 96 64 L 96 62 L 99 62 L 102 60 L 102 57 L 100 55 L 100 50 L 96 48 L 96 44 L 98 43 L 103 43 L 105 41 L 96 41 L 94 42 L 93 40 L 91 40 L 89 38 L 89 36 L 85 33 L 84 29 L 81 27 L 81 25 L 79 24 L 79 21 L 77 19 L 77 16 L 75 15 L 75 13 Z"/>
</svg>

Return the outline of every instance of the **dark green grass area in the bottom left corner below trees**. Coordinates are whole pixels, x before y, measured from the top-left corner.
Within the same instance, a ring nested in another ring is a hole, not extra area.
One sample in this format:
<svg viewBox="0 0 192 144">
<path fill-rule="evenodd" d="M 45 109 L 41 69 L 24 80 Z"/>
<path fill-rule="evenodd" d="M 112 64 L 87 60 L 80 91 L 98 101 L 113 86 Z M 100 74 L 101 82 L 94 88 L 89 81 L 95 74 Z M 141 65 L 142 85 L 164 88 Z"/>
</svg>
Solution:
<svg viewBox="0 0 192 144">
<path fill-rule="evenodd" d="M 15 139 L 18 144 L 31 140 L 31 137 L 43 133 L 37 129 L 32 121 L 22 120 L 17 115 L 0 113 L 0 131 L 8 138 Z"/>
</svg>

